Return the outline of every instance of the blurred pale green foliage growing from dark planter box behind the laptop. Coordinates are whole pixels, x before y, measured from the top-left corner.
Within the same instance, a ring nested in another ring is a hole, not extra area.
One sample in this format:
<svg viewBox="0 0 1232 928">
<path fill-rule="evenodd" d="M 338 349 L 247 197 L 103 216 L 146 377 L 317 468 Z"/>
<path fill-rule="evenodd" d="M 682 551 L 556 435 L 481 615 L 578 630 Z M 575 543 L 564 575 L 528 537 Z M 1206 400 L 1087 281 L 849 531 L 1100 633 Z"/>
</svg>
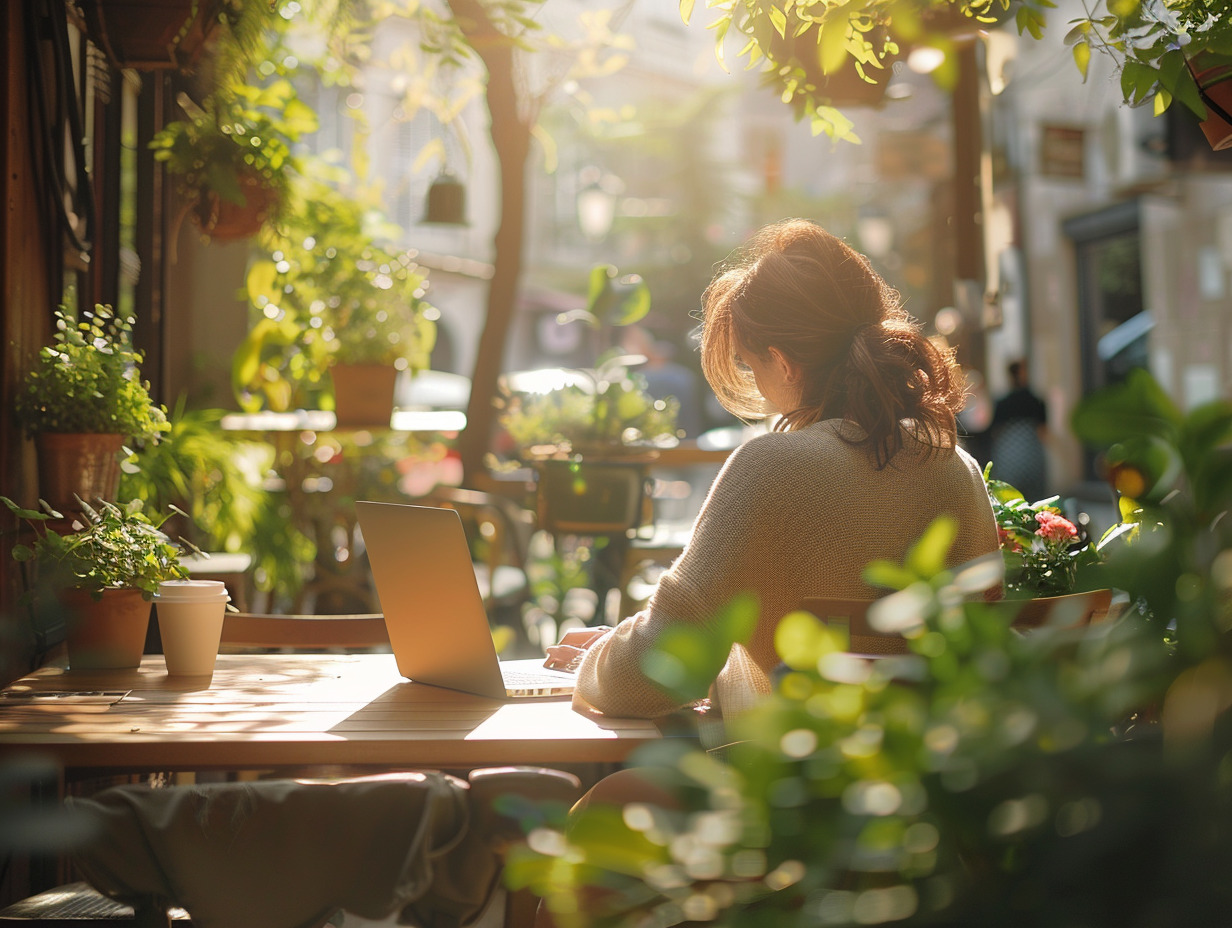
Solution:
<svg viewBox="0 0 1232 928">
<path fill-rule="evenodd" d="M 585 386 L 509 397 L 500 424 L 527 450 L 564 446 L 584 454 L 674 442 L 679 401 L 652 397 L 646 378 L 621 361 L 616 357 L 595 371 L 585 371 L 590 381 Z"/>
</svg>

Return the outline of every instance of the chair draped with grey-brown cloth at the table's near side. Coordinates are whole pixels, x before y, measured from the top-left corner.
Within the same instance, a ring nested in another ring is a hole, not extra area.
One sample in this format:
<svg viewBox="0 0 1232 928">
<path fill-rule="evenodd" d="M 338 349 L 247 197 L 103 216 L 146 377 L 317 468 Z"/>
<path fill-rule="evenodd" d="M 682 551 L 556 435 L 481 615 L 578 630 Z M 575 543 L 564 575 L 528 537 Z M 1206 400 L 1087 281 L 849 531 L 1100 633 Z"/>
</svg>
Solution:
<svg viewBox="0 0 1232 928">
<path fill-rule="evenodd" d="M 460 928 L 488 907 L 522 820 L 579 794 L 545 768 L 116 786 L 70 800 L 95 834 L 73 855 L 86 881 L 9 906 L 0 926 L 314 928 L 345 911 Z M 505 924 L 533 908 L 506 895 Z"/>
</svg>

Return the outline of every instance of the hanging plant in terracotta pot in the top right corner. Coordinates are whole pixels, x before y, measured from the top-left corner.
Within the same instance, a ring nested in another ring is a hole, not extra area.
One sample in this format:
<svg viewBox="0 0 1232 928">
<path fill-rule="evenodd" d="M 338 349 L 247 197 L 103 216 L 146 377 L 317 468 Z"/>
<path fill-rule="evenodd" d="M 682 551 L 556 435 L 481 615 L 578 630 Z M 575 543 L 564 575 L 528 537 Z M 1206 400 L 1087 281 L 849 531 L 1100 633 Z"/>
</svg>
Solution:
<svg viewBox="0 0 1232 928">
<path fill-rule="evenodd" d="M 1112 57 L 1131 106 L 1179 100 L 1215 150 L 1232 148 L 1232 18 L 1218 0 L 1101 0 L 1069 30 L 1083 78 L 1092 49 Z"/>
</svg>

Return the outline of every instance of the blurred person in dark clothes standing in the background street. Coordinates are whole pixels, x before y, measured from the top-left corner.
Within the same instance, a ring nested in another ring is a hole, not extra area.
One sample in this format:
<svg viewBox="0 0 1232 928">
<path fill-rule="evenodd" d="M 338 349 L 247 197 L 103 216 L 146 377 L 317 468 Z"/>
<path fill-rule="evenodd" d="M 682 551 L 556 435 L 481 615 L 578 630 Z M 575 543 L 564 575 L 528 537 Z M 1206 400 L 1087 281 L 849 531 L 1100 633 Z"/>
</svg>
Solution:
<svg viewBox="0 0 1232 928">
<path fill-rule="evenodd" d="M 1048 410 L 1031 391 L 1026 361 L 1011 361 L 1007 371 L 1010 391 L 997 401 L 988 425 L 992 476 L 1013 484 L 1034 503 L 1048 495 L 1048 465 L 1044 452 Z"/>
</svg>

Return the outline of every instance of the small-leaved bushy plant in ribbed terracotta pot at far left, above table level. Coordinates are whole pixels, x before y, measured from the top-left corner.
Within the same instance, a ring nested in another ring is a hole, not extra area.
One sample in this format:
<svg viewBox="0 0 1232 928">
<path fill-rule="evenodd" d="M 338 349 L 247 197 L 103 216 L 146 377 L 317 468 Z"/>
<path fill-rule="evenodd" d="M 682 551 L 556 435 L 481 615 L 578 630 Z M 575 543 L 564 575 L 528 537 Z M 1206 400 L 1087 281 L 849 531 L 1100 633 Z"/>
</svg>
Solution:
<svg viewBox="0 0 1232 928">
<path fill-rule="evenodd" d="M 80 318 L 60 307 L 52 344 L 17 392 L 17 418 L 38 447 L 39 493 L 53 509 L 70 511 L 78 497 L 113 498 L 124 441 L 169 428 L 140 380 L 132 327 L 110 306 Z"/>
</svg>

